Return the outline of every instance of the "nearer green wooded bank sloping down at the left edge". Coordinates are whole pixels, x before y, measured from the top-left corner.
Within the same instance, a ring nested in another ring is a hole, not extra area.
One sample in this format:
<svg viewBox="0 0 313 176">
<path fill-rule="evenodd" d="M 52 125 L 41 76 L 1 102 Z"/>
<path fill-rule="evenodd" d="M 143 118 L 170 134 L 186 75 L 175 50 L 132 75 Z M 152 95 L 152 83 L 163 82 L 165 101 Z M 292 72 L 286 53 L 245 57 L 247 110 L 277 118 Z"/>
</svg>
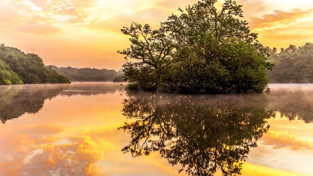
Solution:
<svg viewBox="0 0 313 176">
<path fill-rule="evenodd" d="M 0 45 L 0 85 L 70 83 L 63 75 L 48 69 L 34 53 Z"/>
</svg>

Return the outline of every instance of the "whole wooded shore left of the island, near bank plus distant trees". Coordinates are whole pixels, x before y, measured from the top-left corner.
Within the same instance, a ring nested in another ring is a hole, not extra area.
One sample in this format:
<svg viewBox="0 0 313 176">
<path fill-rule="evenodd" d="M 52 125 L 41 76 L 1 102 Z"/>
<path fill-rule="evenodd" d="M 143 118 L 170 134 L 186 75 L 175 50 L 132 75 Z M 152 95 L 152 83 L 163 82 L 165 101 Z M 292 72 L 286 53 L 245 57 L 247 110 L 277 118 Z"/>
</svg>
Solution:
<svg viewBox="0 0 313 176">
<path fill-rule="evenodd" d="M 0 45 L 0 85 L 70 83 L 70 81 L 122 82 L 122 72 L 107 69 L 46 66 L 34 53 Z"/>
</svg>

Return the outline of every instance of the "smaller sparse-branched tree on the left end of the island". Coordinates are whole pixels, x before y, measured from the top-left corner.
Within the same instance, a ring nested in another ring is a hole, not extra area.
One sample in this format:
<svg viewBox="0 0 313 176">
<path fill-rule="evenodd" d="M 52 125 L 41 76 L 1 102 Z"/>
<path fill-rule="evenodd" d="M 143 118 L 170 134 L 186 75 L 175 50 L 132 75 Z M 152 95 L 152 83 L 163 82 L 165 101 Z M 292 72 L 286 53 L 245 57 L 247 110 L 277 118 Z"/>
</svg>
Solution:
<svg viewBox="0 0 313 176">
<path fill-rule="evenodd" d="M 146 90 L 155 89 L 158 80 L 156 70 L 170 60 L 175 48 L 172 39 L 164 28 L 151 30 L 149 24 L 132 23 L 130 28 L 123 27 L 121 31 L 130 36 L 131 42 L 130 48 L 118 51 L 125 54 L 124 59 L 127 60 L 122 69 L 124 80 Z"/>
</svg>

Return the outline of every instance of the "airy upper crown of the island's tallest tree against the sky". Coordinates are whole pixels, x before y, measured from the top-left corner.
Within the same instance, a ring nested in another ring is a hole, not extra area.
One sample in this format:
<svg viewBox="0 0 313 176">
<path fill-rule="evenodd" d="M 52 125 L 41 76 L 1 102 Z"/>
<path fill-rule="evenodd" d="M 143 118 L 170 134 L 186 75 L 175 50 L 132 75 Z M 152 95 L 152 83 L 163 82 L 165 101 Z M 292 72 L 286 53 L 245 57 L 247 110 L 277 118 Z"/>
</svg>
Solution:
<svg viewBox="0 0 313 176">
<path fill-rule="evenodd" d="M 179 16 L 172 14 L 164 26 L 171 31 L 177 44 L 195 44 L 207 34 L 213 35 L 218 43 L 227 43 L 228 39 L 237 39 L 251 43 L 256 41 L 257 34 L 250 33 L 243 17 L 241 5 L 234 0 L 226 0 L 221 10 L 217 10 L 217 0 L 199 1 L 185 10 L 179 8 Z"/>
</svg>

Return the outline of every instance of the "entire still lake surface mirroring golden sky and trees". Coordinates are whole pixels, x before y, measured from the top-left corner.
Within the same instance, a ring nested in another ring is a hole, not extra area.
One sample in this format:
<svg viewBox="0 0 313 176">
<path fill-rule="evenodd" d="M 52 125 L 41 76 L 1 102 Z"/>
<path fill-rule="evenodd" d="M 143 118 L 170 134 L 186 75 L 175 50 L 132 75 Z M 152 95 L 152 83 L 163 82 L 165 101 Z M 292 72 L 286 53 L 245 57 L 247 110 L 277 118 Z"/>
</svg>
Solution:
<svg viewBox="0 0 313 176">
<path fill-rule="evenodd" d="M 313 175 L 313 85 L 270 93 L 0 86 L 0 175 Z"/>
</svg>

